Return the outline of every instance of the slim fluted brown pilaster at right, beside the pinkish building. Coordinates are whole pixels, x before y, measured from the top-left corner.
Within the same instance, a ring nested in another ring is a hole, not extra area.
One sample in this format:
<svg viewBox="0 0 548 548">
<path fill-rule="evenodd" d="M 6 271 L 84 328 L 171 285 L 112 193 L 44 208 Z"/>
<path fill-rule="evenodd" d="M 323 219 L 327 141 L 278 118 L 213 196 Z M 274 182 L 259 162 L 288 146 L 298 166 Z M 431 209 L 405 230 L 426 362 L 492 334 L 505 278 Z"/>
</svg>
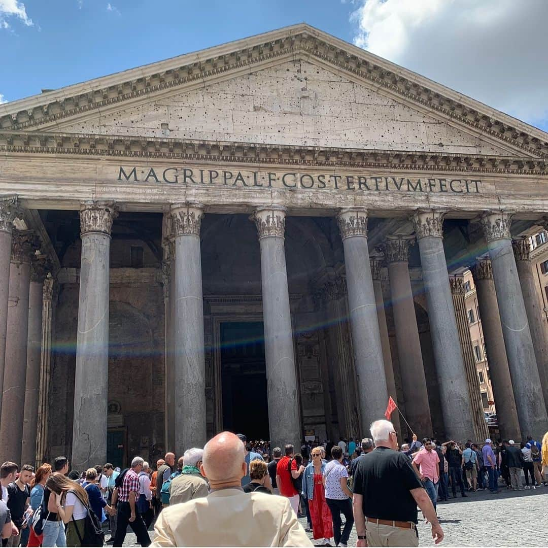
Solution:
<svg viewBox="0 0 548 548">
<path fill-rule="evenodd" d="M 466 300 L 464 288 L 464 276 L 453 275 L 449 277 L 451 293 L 453 295 L 453 306 L 455 308 L 456 325 L 459 329 L 460 347 L 463 351 L 464 369 L 466 371 L 466 380 L 470 403 L 472 405 L 472 425 L 474 437 L 472 439 L 486 439 L 489 437 L 489 430 L 483 414 L 483 405 L 481 394 L 479 392 L 479 380 L 476 367 L 476 357 L 472 349 L 472 338 L 470 336 L 470 323 L 468 312 L 466 310 Z"/>
</svg>

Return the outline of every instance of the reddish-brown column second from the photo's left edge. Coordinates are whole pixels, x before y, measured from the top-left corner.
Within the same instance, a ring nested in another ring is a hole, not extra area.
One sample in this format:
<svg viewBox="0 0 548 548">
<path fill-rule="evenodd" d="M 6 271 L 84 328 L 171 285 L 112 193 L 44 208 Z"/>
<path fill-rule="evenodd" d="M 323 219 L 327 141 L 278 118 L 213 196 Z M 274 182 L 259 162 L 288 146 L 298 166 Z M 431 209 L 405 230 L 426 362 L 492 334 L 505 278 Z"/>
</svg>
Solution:
<svg viewBox="0 0 548 548">
<path fill-rule="evenodd" d="M 21 462 L 27 373 L 28 289 L 33 235 L 14 230 L 9 265 L 8 329 L 0 424 L 0 460 Z"/>
</svg>

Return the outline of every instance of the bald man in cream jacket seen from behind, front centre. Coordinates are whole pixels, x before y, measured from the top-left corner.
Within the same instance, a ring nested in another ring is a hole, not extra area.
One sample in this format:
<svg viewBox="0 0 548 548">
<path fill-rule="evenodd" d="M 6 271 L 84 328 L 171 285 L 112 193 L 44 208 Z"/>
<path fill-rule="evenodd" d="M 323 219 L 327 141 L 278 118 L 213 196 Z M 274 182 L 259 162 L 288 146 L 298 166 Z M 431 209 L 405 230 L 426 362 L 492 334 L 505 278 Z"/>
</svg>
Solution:
<svg viewBox="0 0 548 548">
<path fill-rule="evenodd" d="M 165 508 L 151 546 L 312 546 L 287 498 L 243 492 L 245 456 L 231 432 L 210 439 L 200 467 L 209 495 Z"/>
</svg>

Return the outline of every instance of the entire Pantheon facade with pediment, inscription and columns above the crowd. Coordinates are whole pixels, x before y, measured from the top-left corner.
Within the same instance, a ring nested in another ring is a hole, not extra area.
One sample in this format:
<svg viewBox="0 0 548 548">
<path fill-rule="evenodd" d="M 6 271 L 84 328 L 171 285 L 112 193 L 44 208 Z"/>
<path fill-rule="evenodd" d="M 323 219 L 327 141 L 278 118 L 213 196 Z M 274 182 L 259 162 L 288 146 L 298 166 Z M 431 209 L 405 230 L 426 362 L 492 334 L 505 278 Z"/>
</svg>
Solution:
<svg viewBox="0 0 548 548">
<path fill-rule="evenodd" d="M 548 430 L 548 134 L 308 25 L 0 105 L 0 460 Z"/>
</svg>

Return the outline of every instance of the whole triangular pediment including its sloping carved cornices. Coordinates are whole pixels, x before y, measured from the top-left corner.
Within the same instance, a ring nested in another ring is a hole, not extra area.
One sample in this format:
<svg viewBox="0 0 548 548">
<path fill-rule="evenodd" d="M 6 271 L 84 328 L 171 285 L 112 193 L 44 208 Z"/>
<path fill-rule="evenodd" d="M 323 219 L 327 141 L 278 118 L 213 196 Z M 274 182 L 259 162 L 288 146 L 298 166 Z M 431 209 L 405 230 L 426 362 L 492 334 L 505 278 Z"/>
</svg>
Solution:
<svg viewBox="0 0 548 548">
<path fill-rule="evenodd" d="M 541 130 L 304 24 L 0 105 L 0 127 L 548 155 Z"/>
</svg>

